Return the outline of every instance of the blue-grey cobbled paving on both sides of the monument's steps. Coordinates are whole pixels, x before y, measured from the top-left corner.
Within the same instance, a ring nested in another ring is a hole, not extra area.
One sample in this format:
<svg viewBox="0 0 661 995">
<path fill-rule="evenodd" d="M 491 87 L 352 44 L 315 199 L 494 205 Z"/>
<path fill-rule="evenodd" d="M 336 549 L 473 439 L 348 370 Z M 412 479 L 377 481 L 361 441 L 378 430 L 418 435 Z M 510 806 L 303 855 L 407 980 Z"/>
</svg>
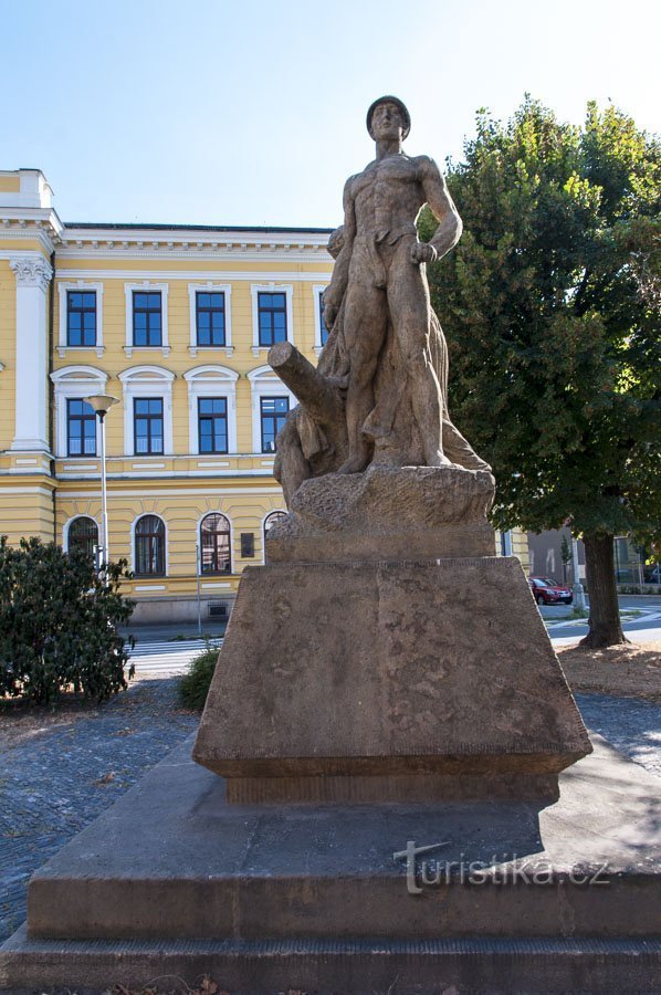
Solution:
<svg viewBox="0 0 661 995">
<path fill-rule="evenodd" d="M 600 694 L 577 701 L 589 727 L 661 777 L 661 704 Z M 0 756 L 0 940 L 25 918 L 30 874 L 197 724 L 177 709 L 176 680 L 159 679 L 84 716 L 9 737 Z"/>
</svg>

